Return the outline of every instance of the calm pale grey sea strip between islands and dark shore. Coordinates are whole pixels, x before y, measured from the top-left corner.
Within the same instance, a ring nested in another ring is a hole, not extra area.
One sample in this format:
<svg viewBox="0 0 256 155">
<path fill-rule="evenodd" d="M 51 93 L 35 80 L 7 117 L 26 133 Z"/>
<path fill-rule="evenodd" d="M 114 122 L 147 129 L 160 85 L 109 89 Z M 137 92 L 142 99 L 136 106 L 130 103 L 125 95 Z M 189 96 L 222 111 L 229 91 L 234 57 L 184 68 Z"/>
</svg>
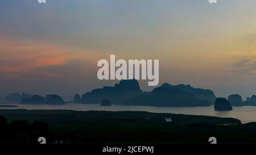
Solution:
<svg viewBox="0 0 256 155">
<path fill-rule="evenodd" d="M 6 105 L 6 104 L 5 104 Z M 242 123 L 256 122 L 256 106 L 233 107 L 233 111 L 214 111 L 214 107 L 151 107 L 151 106 L 119 106 L 102 107 L 100 104 L 65 104 L 49 105 L 23 105 L 11 104 L 18 107 L 0 109 L 27 109 L 27 110 L 77 110 L 77 111 L 148 111 L 158 113 L 187 114 L 218 116 L 221 118 L 236 118 Z"/>
</svg>

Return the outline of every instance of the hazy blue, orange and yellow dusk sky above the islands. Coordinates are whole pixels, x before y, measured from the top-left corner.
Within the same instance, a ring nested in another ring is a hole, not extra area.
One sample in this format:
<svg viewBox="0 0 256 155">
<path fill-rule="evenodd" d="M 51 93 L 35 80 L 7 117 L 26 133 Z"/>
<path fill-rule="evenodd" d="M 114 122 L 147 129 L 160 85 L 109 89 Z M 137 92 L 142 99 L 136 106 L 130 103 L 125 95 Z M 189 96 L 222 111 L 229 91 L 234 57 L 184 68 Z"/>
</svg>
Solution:
<svg viewBox="0 0 256 155">
<path fill-rule="evenodd" d="M 84 94 L 110 55 L 158 59 L 159 86 L 256 94 L 256 1 L 0 1 L 0 94 Z M 152 90 L 140 81 L 143 90 Z"/>
</svg>

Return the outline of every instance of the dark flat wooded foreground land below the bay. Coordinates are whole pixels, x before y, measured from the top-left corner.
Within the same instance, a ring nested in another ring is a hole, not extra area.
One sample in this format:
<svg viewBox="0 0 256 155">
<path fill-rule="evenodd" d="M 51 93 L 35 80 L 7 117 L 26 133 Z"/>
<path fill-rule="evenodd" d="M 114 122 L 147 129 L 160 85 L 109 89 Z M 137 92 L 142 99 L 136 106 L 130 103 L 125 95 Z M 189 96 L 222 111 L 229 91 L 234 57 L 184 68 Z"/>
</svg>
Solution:
<svg viewBox="0 0 256 155">
<path fill-rule="evenodd" d="M 71 110 L 0 110 L 0 115 L 7 119 L 1 119 L 0 136 L 12 137 L 1 143 L 38 143 L 39 136 L 47 143 L 208 143 L 209 137 L 256 143 L 256 123 L 233 118 Z"/>
</svg>

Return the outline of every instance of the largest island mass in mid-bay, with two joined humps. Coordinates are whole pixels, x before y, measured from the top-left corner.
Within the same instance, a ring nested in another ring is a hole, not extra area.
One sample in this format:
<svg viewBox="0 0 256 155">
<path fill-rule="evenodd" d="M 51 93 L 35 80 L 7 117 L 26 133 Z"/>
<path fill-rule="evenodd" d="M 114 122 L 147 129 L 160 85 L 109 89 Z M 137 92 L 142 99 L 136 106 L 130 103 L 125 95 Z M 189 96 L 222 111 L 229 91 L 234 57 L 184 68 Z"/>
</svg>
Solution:
<svg viewBox="0 0 256 155">
<path fill-rule="evenodd" d="M 82 97 L 76 94 L 74 103 L 100 104 L 101 100 L 108 99 L 114 104 L 193 107 L 210 106 L 215 98 L 210 90 L 194 89 L 184 85 L 171 86 L 167 83 L 150 92 L 143 92 L 136 79 L 129 79 L 120 81 L 114 87 L 94 89 Z"/>
</svg>

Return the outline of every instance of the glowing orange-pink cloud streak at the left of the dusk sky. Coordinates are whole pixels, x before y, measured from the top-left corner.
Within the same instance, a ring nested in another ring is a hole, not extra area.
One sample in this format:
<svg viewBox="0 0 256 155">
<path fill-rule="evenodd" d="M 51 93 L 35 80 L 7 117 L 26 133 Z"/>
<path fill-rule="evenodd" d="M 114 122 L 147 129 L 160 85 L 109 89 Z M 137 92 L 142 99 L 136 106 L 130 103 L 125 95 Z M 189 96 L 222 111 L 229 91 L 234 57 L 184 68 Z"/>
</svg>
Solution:
<svg viewBox="0 0 256 155">
<path fill-rule="evenodd" d="M 88 57 L 90 55 L 90 57 Z M 36 68 L 65 65 L 69 61 L 93 61 L 93 52 L 46 45 L 28 40 L 0 39 L 0 72 L 28 72 Z"/>
</svg>

